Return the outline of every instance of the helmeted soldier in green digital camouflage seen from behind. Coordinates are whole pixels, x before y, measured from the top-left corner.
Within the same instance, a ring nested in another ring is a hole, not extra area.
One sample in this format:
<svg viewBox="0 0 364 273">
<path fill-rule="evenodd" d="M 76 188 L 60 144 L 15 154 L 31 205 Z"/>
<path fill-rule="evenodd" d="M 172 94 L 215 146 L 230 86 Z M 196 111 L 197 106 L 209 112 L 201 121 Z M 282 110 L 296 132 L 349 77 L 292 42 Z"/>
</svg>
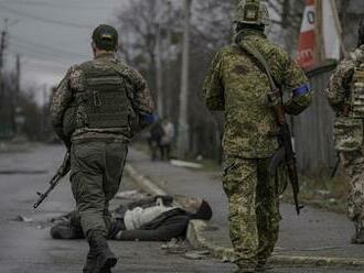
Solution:
<svg viewBox="0 0 364 273">
<path fill-rule="evenodd" d="M 264 56 L 275 81 L 287 92 L 287 113 L 303 111 L 311 92 L 297 63 L 266 39 L 269 15 L 265 3 L 242 1 L 235 23 L 234 42 L 215 55 L 203 95 L 210 110 L 225 112 L 223 187 L 237 272 L 263 272 L 278 239 L 279 195 L 287 179 L 285 172 L 276 178 L 268 175 L 269 159 L 279 148 L 276 116 L 267 103 L 270 85 L 257 61 L 242 50 L 242 42 Z"/>
</svg>

